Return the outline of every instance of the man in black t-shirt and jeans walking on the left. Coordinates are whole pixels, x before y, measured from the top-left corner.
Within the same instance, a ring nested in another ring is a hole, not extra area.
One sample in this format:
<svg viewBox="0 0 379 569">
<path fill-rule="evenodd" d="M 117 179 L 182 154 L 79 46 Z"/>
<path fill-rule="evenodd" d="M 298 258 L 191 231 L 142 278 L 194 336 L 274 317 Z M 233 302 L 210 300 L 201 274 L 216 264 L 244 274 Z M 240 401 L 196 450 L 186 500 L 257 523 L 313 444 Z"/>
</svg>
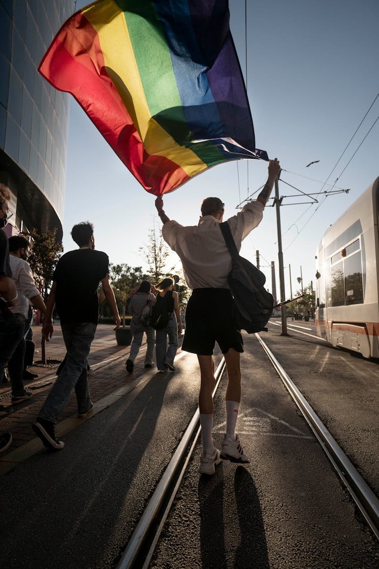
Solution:
<svg viewBox="0 0 379 569">
<path fill-rule="evenodd" d="M 48 340 L 53 333 L 52 314 L 56 306 L 67 349 L 66 364 L 33 425 L 44 445 L 53 449 L 64 447 L 64 442 L 55 438 L 54 425 L 73 389 L 78 417 L 85 417 L 93 407 L 87 381 L 87 358 L 99 318 L 99 282 L 113 312 L 116 328 L 120 325 L 114 292 L 109 284 L 108 255 L 94 250 L 93 225 L 89 222 L 74 225 L 71 235 L 79 249 L 69 251 L 59 259 L 42 328 Z"/>
</svg>

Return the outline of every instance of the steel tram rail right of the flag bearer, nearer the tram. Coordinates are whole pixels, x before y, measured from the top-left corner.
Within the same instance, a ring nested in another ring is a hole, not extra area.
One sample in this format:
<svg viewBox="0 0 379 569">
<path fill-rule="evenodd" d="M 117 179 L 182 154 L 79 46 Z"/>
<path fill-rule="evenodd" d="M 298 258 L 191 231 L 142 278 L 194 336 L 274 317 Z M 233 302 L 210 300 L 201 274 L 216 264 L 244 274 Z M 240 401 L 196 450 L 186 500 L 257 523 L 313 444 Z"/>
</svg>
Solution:
<svg viewBox="0 0 379 569">
<path fill-rule="evenodd" d="M 363 480 L 360 473 L 353 466 L 351 461 L 341 450 L 340 446 L 319 419 L 318 415 L 314 412 L 312 407 L 303 397 L 301 392 L 295 386 L 294 382 L 282 368 L 277 361 L 274 354 L 270 351 L 260 335 L 256 333 L 256 337 L 263 347 L 266 355 L 271 361 L 272 365 L 279 374 L 286 389 L 289 391 L 291 397 L 294 399 L 296 405 L 301 411 L 303 417 L 309 424 L 311 430 L 318 442 L 320 443 L 323 451 L 326 453 L 328 459 L 338 472 L 340 479 L 343 481 L 353 500 L 356 502 L 358 508 L 361 510 L 366 522 L 372 529 L 374 535 L 379 539 L 379 500 L 373 493 L 372 489 Z"/>
</svg>

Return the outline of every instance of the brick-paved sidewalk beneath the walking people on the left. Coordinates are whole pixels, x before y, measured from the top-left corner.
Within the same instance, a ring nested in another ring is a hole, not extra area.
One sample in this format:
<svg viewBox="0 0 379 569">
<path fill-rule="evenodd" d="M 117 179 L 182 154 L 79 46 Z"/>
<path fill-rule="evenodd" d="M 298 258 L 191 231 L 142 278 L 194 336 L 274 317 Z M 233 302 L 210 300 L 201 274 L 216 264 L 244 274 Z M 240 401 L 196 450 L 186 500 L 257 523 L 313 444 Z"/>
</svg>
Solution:
<svg viewBox="0 0 379 569">
<path fill-rule="evenodd" d="M 6 452 L 0 455 L 0 475 L 10 469 L 5 468 L 5 463 L 7 461 L 9 462 L 11 456 L 15 455 L 14 451 L 17 449 L 22 450 L 23 446 L 36 439 L 36 435 L 32 430 L 32 423 L 35 422 L 38 412 L 56 380 L 56 370 L 59 366 L 59 362 L 63 360 L 66 353 L 60 325 L 55 324 L 53 337 L 49 343 L 46 344 L 46 357 L 47 360 L 57 360 L 57 362 L 48 366 L 38 364 L 38 360 L 41 360 L 40 338 L 41 327 L 33 327 L 33 340 L 36 344 L 36 352 L 34 355 L 34 365 L 28 369 L 31 372 L 38 373 L 38 378 L 34 381 L 24 382 L 24 385 L 33 391 L 33 396 L 27 401 L 13 405 L 14 412 L 7 417 L 0 418 L 0 433 L 10 431 L 13 435 L 11 446 Z M 181 345 L 181 341 L 182 336 L 180 336 L 179 345 Z M 156 369 L 144 369 L 146 347 L 144 337 L 143 344 L 135 361 L 134 372 L 127 373 L 125 362 L 130 352 L 130 346 L 118 346 L 116 344 L 112 325 L 98 325 L 88 358 L 89 365 L 91 366 L 91 370 L 88 373 L 89 389 L 91 399 L 94 403 L 106 398 L 107 395 L 114 393 L 114 391 L 120 387 L 130 385 L 132 389 L 136 378 L 144 372 L 148 371 L 150 375 L 156 373 Z M 179 352 L 178 350 L 178 354 Z M 10 382 L 0 385 L 0 402 L 5 406 L 11 405 Z M 70 417 L 77 417 L 75 394 L 73 394 L 70 402 L 61 413 L 59 423 L 57 423 L 57 432 L 60 436 L 63 436 L 63 432 L 59 430 L 60 423 Z M 76 420 L 78 425 L 83 421 L 83 419 Z M 75 426 L 76 424 L 73 423 L 72 428 Z M 65 431 L 67 432 L 67 429 L 65 429 Z M 39 439 L 36 440 L 39 441 Z M 13 454 L 9 456 L 10 453 Z M 30 456 L 31 453 L 32 452 L 28 452 L 28 456 Z"/>
</svg>

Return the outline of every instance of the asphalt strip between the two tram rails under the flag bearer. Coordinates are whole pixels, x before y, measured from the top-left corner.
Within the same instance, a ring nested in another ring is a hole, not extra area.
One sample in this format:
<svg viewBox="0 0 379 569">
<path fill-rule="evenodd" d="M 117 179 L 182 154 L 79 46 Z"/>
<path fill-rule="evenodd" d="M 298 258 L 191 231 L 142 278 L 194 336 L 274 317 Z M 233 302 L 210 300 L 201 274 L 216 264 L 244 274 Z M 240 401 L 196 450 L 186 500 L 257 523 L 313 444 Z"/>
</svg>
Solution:
<svg viewBox="0 0 379 569">
<path fill-rule="evenodd" d="M 264 339 L 301 356 L 295 340 L 277 335 Z M 245 339 L 245 351 L 238 428 L 251 463 L 224 461 L 215 476 L 199 477 L 198 448 L 152 567 L 378 567 L 379 543 L 255 337 Z M 225 387 L 215 398 L 218 442 Z"/>
</svg>

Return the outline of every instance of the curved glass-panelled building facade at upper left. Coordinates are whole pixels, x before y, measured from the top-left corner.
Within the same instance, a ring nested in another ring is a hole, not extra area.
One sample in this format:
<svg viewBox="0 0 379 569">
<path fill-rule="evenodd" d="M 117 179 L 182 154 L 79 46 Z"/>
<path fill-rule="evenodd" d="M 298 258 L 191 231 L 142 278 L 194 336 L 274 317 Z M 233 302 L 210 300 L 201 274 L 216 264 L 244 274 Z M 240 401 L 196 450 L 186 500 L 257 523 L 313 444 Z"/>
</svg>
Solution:
<svg viewBox="0 0 379 569">
<path fill-rule="evenodd" d="M 74 0 L 0 0 L 0 182 L 17 230 L 62 237 L 69 96 L 38 65 Z"/>
</svg>

